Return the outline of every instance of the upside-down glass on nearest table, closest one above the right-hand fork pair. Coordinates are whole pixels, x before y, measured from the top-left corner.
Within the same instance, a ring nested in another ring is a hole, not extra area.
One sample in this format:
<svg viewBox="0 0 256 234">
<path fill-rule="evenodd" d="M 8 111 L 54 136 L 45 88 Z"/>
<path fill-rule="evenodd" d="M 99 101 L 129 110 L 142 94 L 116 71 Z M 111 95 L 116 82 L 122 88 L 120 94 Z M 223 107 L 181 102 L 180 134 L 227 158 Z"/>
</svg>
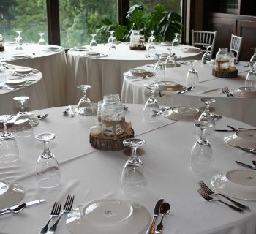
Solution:
<svg viewBox="0 0 256 234">
<path fill-rule="evenodd" d="M 213 167 L 213 151 L 206 140 L 206 128 L 211 127 L 211 121 L 195 121 L 195 126 L 200 127 L 201 135 L 192 147 L 190 155 L 190 166 L 197 173 L 207 173 Z"/>
</svg>

